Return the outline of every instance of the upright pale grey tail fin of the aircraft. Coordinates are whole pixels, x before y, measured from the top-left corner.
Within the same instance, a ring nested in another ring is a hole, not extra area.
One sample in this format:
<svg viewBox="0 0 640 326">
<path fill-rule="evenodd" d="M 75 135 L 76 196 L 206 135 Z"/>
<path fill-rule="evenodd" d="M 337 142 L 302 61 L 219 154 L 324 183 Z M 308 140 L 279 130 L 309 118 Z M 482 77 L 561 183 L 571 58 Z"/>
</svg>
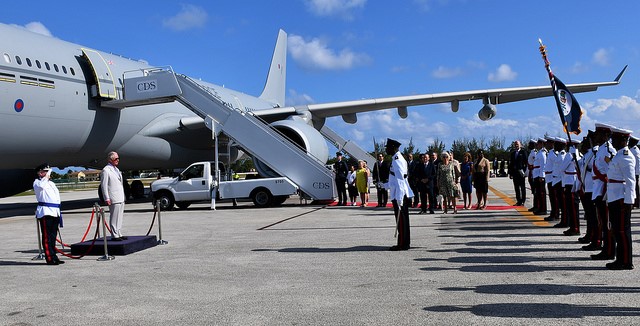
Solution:
<svg viewBox="0 0 640 326">
<path fill-rule="evenodd" d="M 276 48 L 271 58 L 271 66 L 269 67 L 269 75 L 264 90 L 260 94 L 260 98 L 277 103 L 280 107 L 284 107 L 285 84 L 287 79 L 287 33 L 280 30 Z"/>
</svg>

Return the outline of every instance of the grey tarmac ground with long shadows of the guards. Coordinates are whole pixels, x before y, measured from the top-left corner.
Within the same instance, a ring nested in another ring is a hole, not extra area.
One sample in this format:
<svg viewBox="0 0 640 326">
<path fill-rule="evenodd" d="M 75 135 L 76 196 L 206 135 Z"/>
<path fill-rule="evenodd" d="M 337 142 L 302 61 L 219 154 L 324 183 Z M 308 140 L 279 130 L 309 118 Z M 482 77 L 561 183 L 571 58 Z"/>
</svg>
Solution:
<svg viewBox="0 0 640 326">
<path fill-rule="evenodd" d="M 509 206 L 509 179 L 490 186 L 485 211 L 413 209 L 408 251 L 388 251 L 390 208 L 289 199 L 163 212 L 168 244 L 60 266 L 32 260 L 33 196 L 0 199 L 0 325 L 640 324 L 638 269 L 607 270 L 577 236 L 527 212 L 530 199 Z M 64 242 L 80 242 L 95 197 L 62 193 Z M 146 234 L 152 217 L 148 201 L 128 203 L 125 235 Z"/>
</svg>

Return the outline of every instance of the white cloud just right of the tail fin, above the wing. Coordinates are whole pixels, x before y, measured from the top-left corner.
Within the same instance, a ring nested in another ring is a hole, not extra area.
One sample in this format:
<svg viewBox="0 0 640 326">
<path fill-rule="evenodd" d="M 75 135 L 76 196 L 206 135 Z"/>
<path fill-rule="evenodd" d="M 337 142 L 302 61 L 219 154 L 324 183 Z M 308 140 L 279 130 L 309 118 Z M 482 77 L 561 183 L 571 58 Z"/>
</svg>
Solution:
<svg viewBox="0 0 640 326">
<path fill-rule="evenodd" d="M 293 60 L 307 69 L 346 70 L 371 62 L 368 55 L 355 53 L 350 49 L 342 49 L 336 53 L 319 38 L 307 42 L 301 36 L 291 34 L 288 43 Z"/>
</svg>

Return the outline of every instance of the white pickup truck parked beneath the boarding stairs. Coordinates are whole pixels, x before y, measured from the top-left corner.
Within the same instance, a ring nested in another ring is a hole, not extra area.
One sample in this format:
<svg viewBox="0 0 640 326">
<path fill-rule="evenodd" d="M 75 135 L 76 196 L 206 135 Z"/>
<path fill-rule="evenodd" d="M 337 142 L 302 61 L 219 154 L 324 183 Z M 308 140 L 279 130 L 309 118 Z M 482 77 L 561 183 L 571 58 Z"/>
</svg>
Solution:
<svg viewBox="0 0 640 326">
<path fill-rule="evenodd" d="M 196 162 L 175 178 L 163 178 L 151 183 L 154 202 L 160 209 L 170 210 L 175 204 L 185 209 L 193 202 L 211 200 L 214 186 L 215 162 Z M 220 174 L 225 175 L 224 165 L 218 164 Z M 221 177 L 221 180 L 225 180 Z M 290 195 L 298 193 L 298 186 L 285 177 L 251 180 L 220 181 L 217 199 L 250 198 L 257 207 L 282 204 Z"/>
</svg>

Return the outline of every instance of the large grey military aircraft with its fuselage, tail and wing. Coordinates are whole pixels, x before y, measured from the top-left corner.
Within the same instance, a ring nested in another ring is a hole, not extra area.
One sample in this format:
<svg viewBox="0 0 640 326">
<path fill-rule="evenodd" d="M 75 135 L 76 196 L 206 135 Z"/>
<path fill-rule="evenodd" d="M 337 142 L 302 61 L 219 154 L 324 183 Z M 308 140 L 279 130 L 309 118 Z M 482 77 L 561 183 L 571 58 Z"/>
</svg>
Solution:
<svg viewBox="0 0 640 326">
<path fill-rule="evenodd" d="M 327 117 L 356 123 L 356 114 L 397 108 L 482 100 L 478 116 L 496 115 L 496 104 L 550 96 L 549 86 L 461 91 L 364 99 L 301 106 L 285 105 L 287 36 L 279 32 L 262 94 L 196 81 L 230 108 L 249 112 L 283 131 L 315 157 L 327 158 L 326 141 L 318 131 Z M 116 150 L 123 169 L 175 168 L 212 158 L 211 131 L 179 102 L 116 108 L 122 100 L 125 72 L 153 69 L 146 62 L 83 47 L 0 24 L 0 196 L 31 187 L 33 170 L 43 161 L 54 166 L 100 167 Z M 624 72 L 624 70 L 623 70 Z M 619 83 L 569 85 L 575 93 Z M 223 141 L 224 137 L 219 137 Z M 220 146 L 222 147 L 222 146 Z M 221 148 L 221 151 L 223 148 Z M 225 153 L 231 161 L 242 151 Z"/>
</svg>

